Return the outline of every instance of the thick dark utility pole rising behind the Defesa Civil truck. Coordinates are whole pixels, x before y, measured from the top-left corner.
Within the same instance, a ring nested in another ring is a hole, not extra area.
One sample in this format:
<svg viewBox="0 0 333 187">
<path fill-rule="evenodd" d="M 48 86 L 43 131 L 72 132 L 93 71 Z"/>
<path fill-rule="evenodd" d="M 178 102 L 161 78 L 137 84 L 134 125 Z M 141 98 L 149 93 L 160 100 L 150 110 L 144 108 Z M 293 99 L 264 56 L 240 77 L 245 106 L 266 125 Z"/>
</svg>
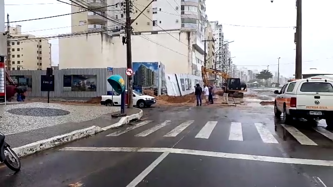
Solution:
<svg viewBox="0 0 333 187">
<path fill-rule="evenodd" d="M 295 79 L 302 79 L 302 0 L 296 0 L 297 20 L 296 20 L 296 66 Z"/>
</svg>

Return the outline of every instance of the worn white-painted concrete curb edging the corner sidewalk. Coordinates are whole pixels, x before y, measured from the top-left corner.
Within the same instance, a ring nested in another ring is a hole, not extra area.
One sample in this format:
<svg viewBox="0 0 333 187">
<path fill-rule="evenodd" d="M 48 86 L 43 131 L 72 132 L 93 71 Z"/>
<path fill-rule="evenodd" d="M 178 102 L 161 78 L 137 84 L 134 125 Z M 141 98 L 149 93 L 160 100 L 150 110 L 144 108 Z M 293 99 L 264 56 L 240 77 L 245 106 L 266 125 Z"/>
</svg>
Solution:
<svg viewBox="0 0 333 187">
<path fill-rule="evenodd" d="M 97 134 L 99 132 L 103 132 L 108 129 L 112 129 L 112 128 L 127 124 L 131 120 L 141 119 L 141 117 L 143 115 L 143 111 L 141 109 L 139 109 L 139 110 L 140 110 L 140 112 L 129 115 L 129 116 L 124 116 L 117 123 L 114 123 L 112 125 L 109 125 L 109 126 L 106 126 L 103 128 L 101 128 L 99 126 L 91 126 L 88 128 L 75 130 L 75 131 L 72 131 L 67 134 L 54 136 L 52 138 L 29 143 L 27 145 L 23 145 L 20 147 L 15 147 L 15 148 L 13 148 L 13 150 L 16 152 L 18 157 L 21 158 L 24 156 L 34 154 L 39 151 L 43 151 L 46 149 L 50 149 L 52 147 L 56 147 L 56 146 L 64 144 L 64 143 L 68 143 L 68 142 L 78 140 L 78 139 L 81 139 L 81 138 L 84 138 L 87 136 L 91 136 L 91 135 Z"/>
</svg>

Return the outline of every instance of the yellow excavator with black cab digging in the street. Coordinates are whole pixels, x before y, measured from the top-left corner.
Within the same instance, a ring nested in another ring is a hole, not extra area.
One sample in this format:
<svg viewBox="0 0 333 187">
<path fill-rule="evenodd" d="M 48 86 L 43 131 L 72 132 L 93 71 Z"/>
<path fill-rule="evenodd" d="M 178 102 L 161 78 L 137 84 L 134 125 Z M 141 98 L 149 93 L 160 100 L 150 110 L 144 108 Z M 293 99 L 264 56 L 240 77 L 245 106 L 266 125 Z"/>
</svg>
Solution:
<svg viewBox="0 0 333 187">
<path fill-rule="evenodd" d="M 227 85 L 226 93 L 232 97 L 243 98 L 244 92 L 247 92 L 246 84 L 241 83 L 239 78 L 230 78 L 230 76 L 223 71 L 201 66 L 201 73 L 202 81 L 205 85 L 209 85 L 207 73 L 222 77 Z"/>
</svg>

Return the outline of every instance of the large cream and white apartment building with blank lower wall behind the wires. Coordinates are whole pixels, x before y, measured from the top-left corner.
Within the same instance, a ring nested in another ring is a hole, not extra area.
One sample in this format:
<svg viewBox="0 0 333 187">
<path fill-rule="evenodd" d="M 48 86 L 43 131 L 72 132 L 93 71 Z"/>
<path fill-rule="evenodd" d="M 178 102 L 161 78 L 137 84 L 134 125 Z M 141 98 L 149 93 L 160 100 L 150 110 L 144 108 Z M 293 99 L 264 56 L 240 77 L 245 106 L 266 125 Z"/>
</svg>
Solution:
<svg viewBox="0 0 333 187">
<path fill-rule="evenodd" d="M 88 8 L 98 8 L 102 7 L 101 4 L 117 2 L 120 0 L 91 0 L 87 4 Z M 147 0 L 133 1 L 132 19 L 149 3 Z M 121 9 L 117 5 L 104 11 L 108 18 L 123 23 L 125 13 Z M 89 15 L 93 13 L 72 6 L 72 12 L 78 11 L 81 13 L 72 15 L 72 32 L 122 29 L 123 25 L 106 21 L 102 16 Z M 204 0 L 154 1 L 132 24 L 132 61 L 162 62 L 166 66 L 166 73 L 199 75 L 204 60 L 201 41 L 205 38 L 205 18 Z M 101 26 L 92 26 L 99 24 Z M 124 30 L 60 38 L 59 68 L 126 67 L 123 36 Z"/>
</svg>

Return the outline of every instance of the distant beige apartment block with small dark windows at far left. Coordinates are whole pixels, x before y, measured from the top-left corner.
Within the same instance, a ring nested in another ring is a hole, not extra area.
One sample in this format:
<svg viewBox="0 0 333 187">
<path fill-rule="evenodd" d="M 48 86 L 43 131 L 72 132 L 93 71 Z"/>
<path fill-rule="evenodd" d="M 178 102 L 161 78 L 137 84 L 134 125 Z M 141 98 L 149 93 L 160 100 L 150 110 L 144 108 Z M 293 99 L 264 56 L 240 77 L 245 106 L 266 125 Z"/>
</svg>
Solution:
<svg viewBox="0 0 333 187">
<path fill-rule="evenodd" d="M 21 26 L 10 27 L 10 70 L 42 70 L 51 67 L 51 44 L 47 39 L 22 33 Z M 25 40 L 29 39 L 29 40 Z"/>
</svg>

